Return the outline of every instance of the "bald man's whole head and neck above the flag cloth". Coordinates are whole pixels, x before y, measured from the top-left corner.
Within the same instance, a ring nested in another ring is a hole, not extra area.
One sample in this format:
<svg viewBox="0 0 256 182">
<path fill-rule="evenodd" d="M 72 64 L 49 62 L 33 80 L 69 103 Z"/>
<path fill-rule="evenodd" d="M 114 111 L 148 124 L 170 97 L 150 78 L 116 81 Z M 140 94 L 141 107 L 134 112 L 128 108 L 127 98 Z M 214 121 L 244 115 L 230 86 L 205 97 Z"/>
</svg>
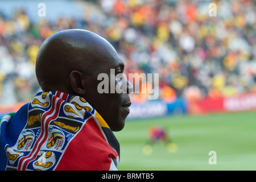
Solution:
<svg viewBox="0 0 256 182">
<path fill-rule="evenodd" d="M 85 98 L 105 119 L 112 131 L 120 131 L 131 105 L 127 81 L 126 93 L 98 93 L 100 73 L 110 78 L 123 73 L 123 61 L 114 47 L 101 36 L 85 30 L 64 30 L 44 41 L 36 58 L 36 77 L 44 92 L 59 90 Z M 118 80 L 115 80 L 117 84 Z M 110 85 L 110 84 L 109 84 Z M 110 88 L 110 86 L 109 86 Z"/>
</svg>

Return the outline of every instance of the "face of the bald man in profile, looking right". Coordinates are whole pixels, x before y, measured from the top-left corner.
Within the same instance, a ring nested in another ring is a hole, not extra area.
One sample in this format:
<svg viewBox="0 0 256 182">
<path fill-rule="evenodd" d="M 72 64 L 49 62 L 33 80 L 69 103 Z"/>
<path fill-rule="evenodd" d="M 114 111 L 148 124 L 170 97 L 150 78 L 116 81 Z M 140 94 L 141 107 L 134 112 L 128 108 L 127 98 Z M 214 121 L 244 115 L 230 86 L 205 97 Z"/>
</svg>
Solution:
<svg viewBox="0 0 256 182">
<path fill-rule="evenodd" d="M 98 84 L 100 84 L 101 80 L 97 80 L 97 77 L 100 73 L 106 73 L 108 75 L 108 88 L 110 90 L 110 77 L 114 77 L 114 86 L 116 86 L 119 80 L 118 77 L 115 76 L 119 73 L 123 73 L 125 68 L 123 61 L 114 50 L 113 52 L 108 52 L 106 55 L 102 56 L 102 60 L 99 62 L 101 63 L 97 64 L 98 68 L 95 69 L 88 82 L 88 89 L 84 94 L 84 98 L 98 111 L 98 113 L 100 113 L 112 131 L 120 131 L 125 126 L 125 119 L 130 112 L 129 106 L 131 105 L 131 101 L 129 93 L 133 89 L 133 86 L 126 80 L 127 92 L 117 93 L 109 91 L 108 93 L 99 93 Z M 113 72 L 110 72 L 110 69 L 115 70 L 114 75 L 111 75 Z"/>
</svg>

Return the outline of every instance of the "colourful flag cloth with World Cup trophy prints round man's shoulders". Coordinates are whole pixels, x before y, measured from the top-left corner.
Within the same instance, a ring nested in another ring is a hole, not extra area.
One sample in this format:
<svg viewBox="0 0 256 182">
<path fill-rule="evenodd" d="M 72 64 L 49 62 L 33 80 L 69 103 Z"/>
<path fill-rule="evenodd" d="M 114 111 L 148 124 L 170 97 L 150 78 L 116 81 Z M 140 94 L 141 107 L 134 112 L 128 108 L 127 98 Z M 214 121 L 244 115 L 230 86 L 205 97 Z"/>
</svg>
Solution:
<svg viewBox="0 0 256 182">
<path fill-rule="evenodd" d="M 82 97 L 39 92 L 0 120 L 0 170 L 117 170 L 119 143 Z"/>
</svg>

